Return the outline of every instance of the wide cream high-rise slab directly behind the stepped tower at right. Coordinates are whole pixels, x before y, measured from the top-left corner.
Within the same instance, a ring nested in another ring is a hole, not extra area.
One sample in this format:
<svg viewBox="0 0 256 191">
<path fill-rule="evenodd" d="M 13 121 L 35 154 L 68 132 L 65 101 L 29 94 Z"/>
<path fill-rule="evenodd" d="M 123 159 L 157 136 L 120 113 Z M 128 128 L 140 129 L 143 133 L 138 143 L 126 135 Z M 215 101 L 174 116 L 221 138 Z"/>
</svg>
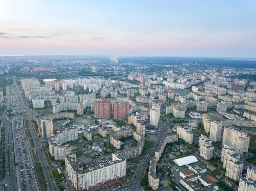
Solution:
<svg viewBox="0 0 256 191">
<path fill-rule="evenodd" d="M 224 127 L 222 145 L 229 145 L 238 154 L 247 153 L 250 137 L 246 131 L 238 130 L 234 126 Z"/>
</svg>

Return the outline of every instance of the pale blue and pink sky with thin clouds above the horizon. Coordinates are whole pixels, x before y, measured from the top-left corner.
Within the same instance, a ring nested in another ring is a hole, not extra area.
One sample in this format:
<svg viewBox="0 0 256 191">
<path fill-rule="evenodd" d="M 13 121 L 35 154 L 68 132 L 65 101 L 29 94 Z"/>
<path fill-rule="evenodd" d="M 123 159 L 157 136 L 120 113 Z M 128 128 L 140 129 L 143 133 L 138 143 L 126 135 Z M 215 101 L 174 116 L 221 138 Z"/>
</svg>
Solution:
<svg viewBox="0 0 256 191">
<path fill-rule="evenodd" d="M 256 0 L 0 0 L 0 55 L 256 57 Z"/>
</svg>

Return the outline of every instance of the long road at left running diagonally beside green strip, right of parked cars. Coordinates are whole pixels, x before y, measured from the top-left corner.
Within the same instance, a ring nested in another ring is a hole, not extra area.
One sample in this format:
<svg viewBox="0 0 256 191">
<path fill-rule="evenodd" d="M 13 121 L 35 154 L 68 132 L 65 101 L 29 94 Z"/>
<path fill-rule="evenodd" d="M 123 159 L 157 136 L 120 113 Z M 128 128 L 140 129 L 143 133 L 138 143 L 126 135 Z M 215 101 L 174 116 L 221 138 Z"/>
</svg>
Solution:
<svg viewBox="0 0 256 191">
<path fill-rule="evenodd" d="M 32 138 L 33 138 L 33 141 L 35 143 L 35 146 L 36 146 L 36 151 L 37 151 L 37 154 L 38 154 L 38 157 L 39 159 L 41 160 L 40 163 L 42 165 L 42 169 L 43 169 L 43 173 L 45 175 L 45 179 L 47 181 L 47 190 L 49 191 L 54 191 L 54 186 L 52 184 L 52 179 L 50 178 L 50 175 L 49 175 L 49 171 L 47 169 L 47 164 L 45 162 L 45 159 L 43 157 L 43 154 L 42 154 L 42 151 L 40 150 L 40 145 L 38 144 L 38 141 L 37 141 L 37 136 L 34 132 L 34 129 L 32 127 L 32 117 L 33 117 L 33 114 L 34 114 L 34 111 L 32 111 L 29 107 L 27 107 L 27 105 L 24 103 L 24 100 L 22 98 L 22 95 L 21 95 L 21 91 L 20 91 L 20 88 L 19 86 L 17 85 L 16 83 L 16 78 L 14 78 L 14 84 L 16 86 L 16 88 L 18 89 L 18 96 L 20 98 L 20 101 L 22 103 L 22 105 L 24 106 L 24 108 L 27 109 L 27 114 L 28 114 L 28 119 L 29 119 L 29 129 L 31 131 L 31 135 L 32 135 Z"/>
</svg>

